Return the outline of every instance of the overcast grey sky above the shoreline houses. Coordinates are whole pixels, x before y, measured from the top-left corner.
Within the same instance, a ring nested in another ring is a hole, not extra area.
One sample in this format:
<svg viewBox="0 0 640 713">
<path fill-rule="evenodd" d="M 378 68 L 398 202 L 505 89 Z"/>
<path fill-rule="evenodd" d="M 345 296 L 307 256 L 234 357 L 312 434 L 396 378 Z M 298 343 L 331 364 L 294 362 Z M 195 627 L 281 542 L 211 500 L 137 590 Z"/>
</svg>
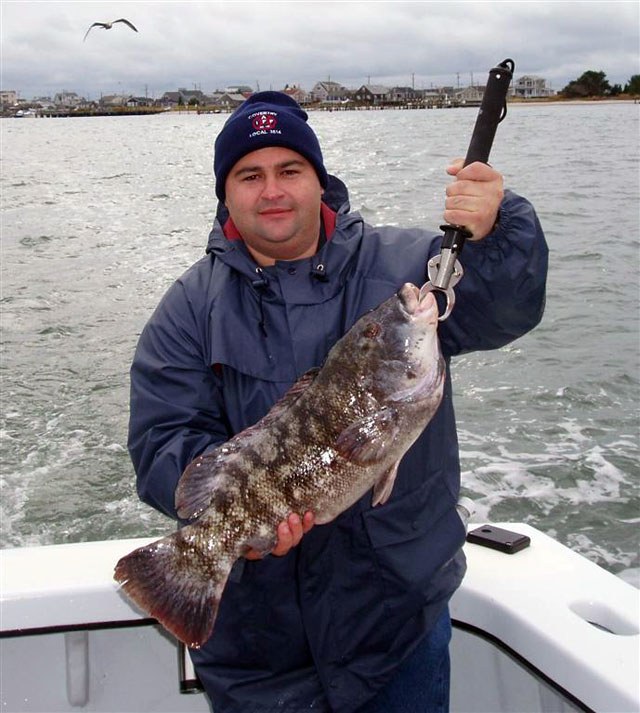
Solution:
<svg viewBox="0 0 640 713">
<path fill-rule="evenodd" d="M 637 0 L 619 2 L 59 2 L 1 0 L 2 89 L 96 99 L 231 84 L 311 89 L 331 78 L 416 88 L 484 83 L 507 57 L 554 89 L 639 66 Z M 111 30 L 92 22 L 125 17 Z M 413 78 L 412 78 L 412 75 Z"/>
</svg>

